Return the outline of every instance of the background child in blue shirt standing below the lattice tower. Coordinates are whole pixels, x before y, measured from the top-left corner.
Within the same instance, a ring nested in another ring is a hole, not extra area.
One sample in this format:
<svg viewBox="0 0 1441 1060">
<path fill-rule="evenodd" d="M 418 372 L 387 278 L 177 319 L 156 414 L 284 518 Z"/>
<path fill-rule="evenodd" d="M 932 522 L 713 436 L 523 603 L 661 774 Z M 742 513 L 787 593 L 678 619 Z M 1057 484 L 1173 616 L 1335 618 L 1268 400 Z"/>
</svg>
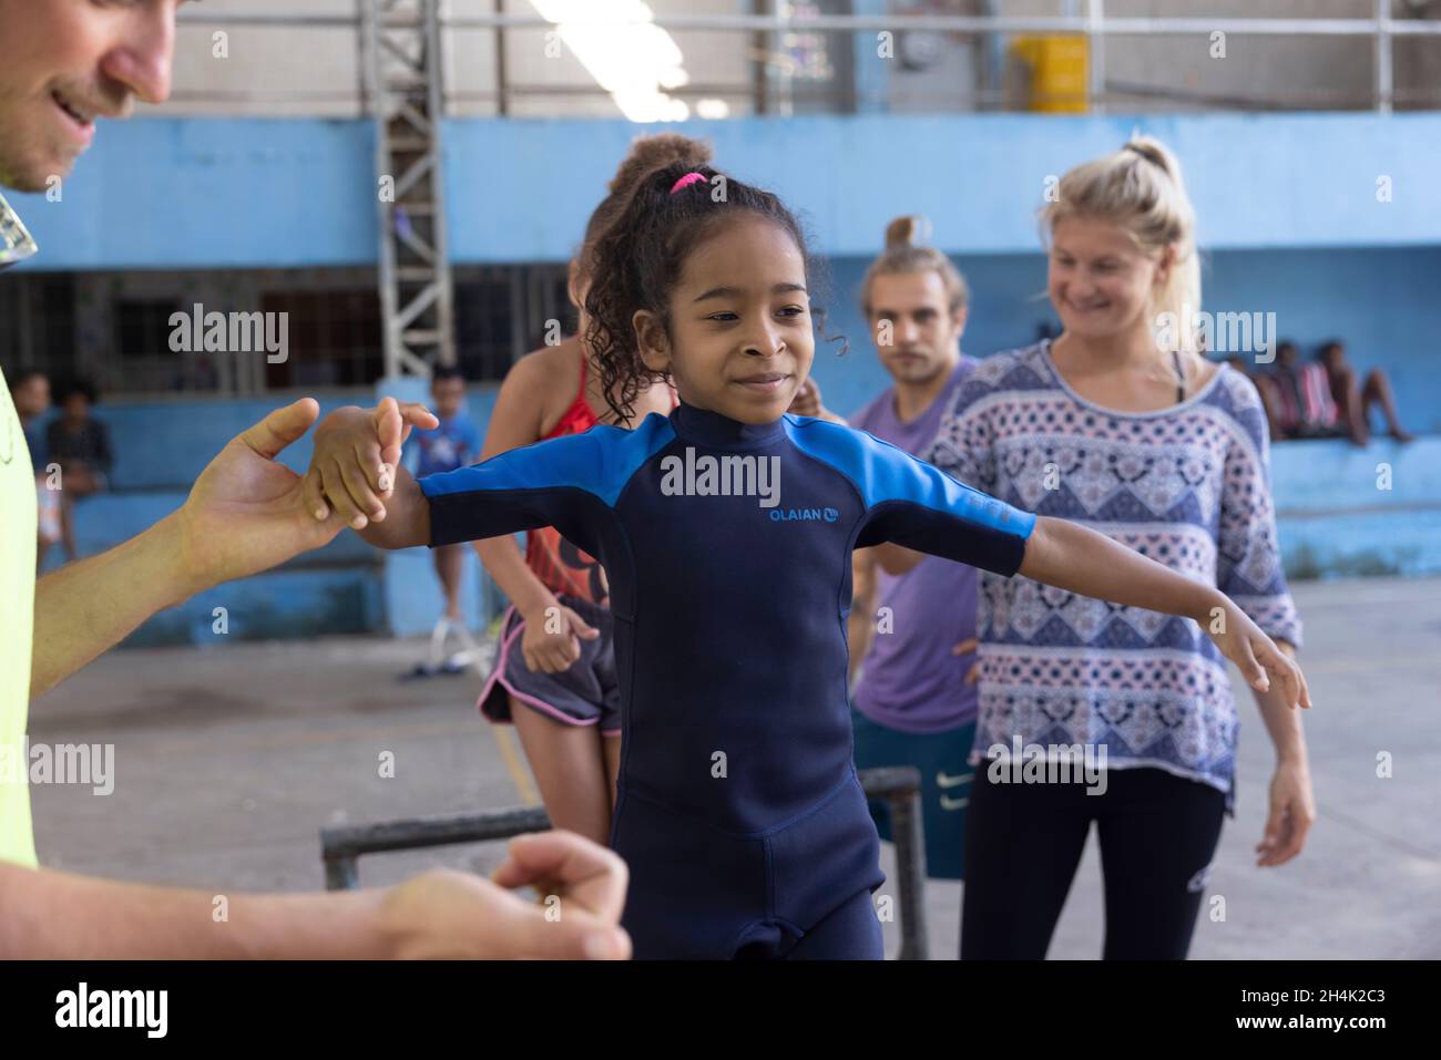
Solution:
<svg viewBox="0 0 1441 1060">
<path fill-rule="evenodd" d="M 454 366 L 441 366 L 431 374 L 431 402 L 440 426 L 416 428 L 411 446 L 418 454 L 415 474 L 418 478 L 455 471 L 480 459 L 480 431 L 465 415 L 465 376 Z M 467 652 L 476 650 L 465 629 L 460 609 L 460 582 L 465 569 L 465 546 L 448 544 L 434 550 L 435 575 L 445 593 L 445 614 L 431 634 L 431 668 L 442 673 L 458 673 L 468 661 Z M 445 655 L 445 639 L 454 632 L 463 652 Z M 418 671 L 419 673 L 419 671 Z"/>
</svg>

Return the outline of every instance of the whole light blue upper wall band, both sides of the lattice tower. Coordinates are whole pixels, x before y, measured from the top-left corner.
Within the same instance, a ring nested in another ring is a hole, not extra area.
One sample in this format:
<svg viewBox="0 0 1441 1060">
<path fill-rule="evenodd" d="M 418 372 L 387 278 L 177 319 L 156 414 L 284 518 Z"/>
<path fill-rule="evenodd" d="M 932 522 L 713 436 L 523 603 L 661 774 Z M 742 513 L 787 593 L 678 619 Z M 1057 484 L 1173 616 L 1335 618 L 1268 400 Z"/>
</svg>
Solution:
<svg viewBox="0 0 1441 1060">
<path fill-rule="evenodd" d="M 624 121 L 447 122 L 458 262 L 563 261 L 630 140 Z M 803 210 L 817 249 L 875 249 L 922 212 L 955 253 L 1029 252 L 1048 176 L 1136 128 L 1186 167 L 1212 249 L 1441 243 L 1441 114 L 804 117 L 687 122 L 738 177 Z M 363 121 L 151 118 L 101 128 L 58 203 L 19 196 L 27 268 L 254 268 L 376 261 Z M 1391 202 L 1376 181 L 1391 180 Z"/>
</svg>

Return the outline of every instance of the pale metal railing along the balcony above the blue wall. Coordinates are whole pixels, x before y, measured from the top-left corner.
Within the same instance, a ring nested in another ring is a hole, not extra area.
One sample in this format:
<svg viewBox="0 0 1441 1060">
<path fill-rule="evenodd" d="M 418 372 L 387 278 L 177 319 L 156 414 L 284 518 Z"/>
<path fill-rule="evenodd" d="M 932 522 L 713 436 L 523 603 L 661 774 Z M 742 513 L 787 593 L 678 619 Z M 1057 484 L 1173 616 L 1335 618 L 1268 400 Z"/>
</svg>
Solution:
<svg viewBox="0 0 1441 1060">
<path fill-rule="evenodd" d="M 1075 9 L 1075 4 L 1071 4 Z M 584 26 L 586 19 L 566 22 L 568 26 Z M 793 16 L 784 13 L 757 14 L 657 14 L 654 19 L 635 17 L 607 17 L 604 24 L 656 24 L 664 30 L 683 32 L 723 32 L 746 33 L 767 39 L 780 40 L 793 33 L 882 33 L 895 35 L 908 32 L 928 33 L 960 33 L 976 36 L 1006 37 L 1010 35 L 1075 35 L 1087 39 L 1089 46 L 1088 82 L 1089 107 L 1101 111 L 1107 99 L 1112 95 L 1134 96 L 1137 91 L 1121 88 L 1107 79 L 1107 46 L 1112 39 L 1125 37 L 1156 37 L 1156 36 L 1206 36 L 1223 33 L 1228 36 L 1257 36 L 1257 37 L 1370 37 L 1373 42 L 1372 69 L 1372 108 L 1389 112 L 1395 101 L 1395 63 L 1393 42 L 1398 37 L 1438 37 L 1441 36 L 1441 19 L 1398 19 L 1391 13 L 1391 0 L 1373 0 L 1373 14 L 1369 19 L 1301 19 L 1301 17 L 1112 17 L 1105 13 L 1105 0 L 1084 0 L 1084 14 L 1056 16 L 961 16 L 961 14 L 813 14 Z M 360 48 L 362 20 L 359 14 L 342 14 L 327 12 L 285 12 L 285 13 L 242 13 L 242 12 L 208 12 L 203 7 L 186 7 L 180 16 L 182 26 L 213 26 L 213 27 L 295 27 L 295 29 L 349 29 L 356 33 L 356 48 Z M 500 35 L 517 30 L 550 30 L 556 23 L 539 14 L 465 14 L 448 16 L 441 20 L 444 30 L 493 30 Z M 762 59 L 764 62 L 764 59 Z M 778 75 L 785 81 L 784 71 Z M 503 48 L 497 39 L 496 88 L 491 94 L 457 94 L 447 92 L 447 107 L 460 99 L 493 98 L 497 111 L 504 114 L 507 101 L 517 95 L 604 95 L 605 89 L 594 86 L 558 86 L 558 85 L 526 85 L 519 86 L 507 81 Z M 1317 84 L 1324 76 L 1317 73 Z M 667 89 L 670 91 L 670 89 Z M 757 112 L 767 112 L 764 92 L 755 85 L 706 85 L 682 89 L 687 95 L 699 91 L 757 94 Z M 274 92 L 195 92 L 193 99 L 259 99 L 275 101 Z M 334 89 L 317 94 L 300 94 L 304 98 L 336 99 Z M 349 96 L 350 94 L 343 94 Z M 369 107 L 363 86 L 356 88 L 362 109 Z M 1146 95 L 1144 91 L 1140 95 Z M 294 96 L 293 96 L 294 98 Z M 1202 96 L 1202 102 L 1226 105 L 1244 105 L 1245 101 L 1228 96 Z M 1437 101 L 1441 104 L 1441 98 Z"/>
</svg>

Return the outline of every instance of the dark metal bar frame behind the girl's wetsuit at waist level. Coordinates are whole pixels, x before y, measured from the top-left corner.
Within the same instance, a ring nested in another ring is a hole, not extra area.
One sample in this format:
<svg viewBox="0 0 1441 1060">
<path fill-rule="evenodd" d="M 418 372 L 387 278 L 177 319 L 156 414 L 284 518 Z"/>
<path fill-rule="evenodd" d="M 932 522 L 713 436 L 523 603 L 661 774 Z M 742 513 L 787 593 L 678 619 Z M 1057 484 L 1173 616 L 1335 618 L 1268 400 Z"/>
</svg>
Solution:
<svg viewBox="0 0 1441 1060">
<path fill-rule="evenodd" d="M 921 773 L 915 766 L 862 769 L 860 786 L 873 799 L 885 799 L 891 811 L 891 835 L 896 847 L 896 904 L 901 913 L 901 961 L 925 961 L 929 953 L 925 930 L 925 835 L 921 827 Z M 522 832 L 550 827 L 540 807 L 493 809 L 474 814 L 435 814 L 376 824 L 340 825 L 320 830 L 320 858 L 326 867 L 326 890 L 360 886 L 356 860 L 362 854 L 451 847 L 463 843 L 509 840 Z"/>
</svg>

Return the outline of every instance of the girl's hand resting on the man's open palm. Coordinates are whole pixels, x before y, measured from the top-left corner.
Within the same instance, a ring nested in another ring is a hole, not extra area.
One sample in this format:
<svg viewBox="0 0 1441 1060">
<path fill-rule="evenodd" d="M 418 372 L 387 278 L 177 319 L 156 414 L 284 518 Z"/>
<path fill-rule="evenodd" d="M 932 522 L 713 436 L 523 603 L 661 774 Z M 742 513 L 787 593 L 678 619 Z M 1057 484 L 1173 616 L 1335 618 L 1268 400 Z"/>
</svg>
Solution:
<svg viewBox="0 0 1441 1060">
<path fill-rule="evenodd" d="M 395 488 L 395 465 L 412 426 L 440 421 L 419 402 L 385 398 L 373 409 L 336 409 L 316 428 L 316 449 L 305 472 L 305 506 L 316 518 L 333 507 L 354 530 L 385 518 L 385 498 Z"/>
</svg>

